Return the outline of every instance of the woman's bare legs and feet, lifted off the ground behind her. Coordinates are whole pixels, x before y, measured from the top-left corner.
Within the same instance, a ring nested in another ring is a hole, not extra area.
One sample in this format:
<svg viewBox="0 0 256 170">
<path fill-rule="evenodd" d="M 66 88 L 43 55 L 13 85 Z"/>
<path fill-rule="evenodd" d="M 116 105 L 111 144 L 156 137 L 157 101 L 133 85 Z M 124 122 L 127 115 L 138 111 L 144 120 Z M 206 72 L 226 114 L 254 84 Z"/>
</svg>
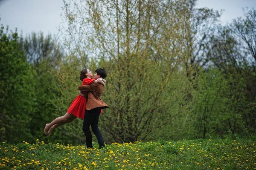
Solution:
<svg viewBox="0 0 256 170">
<path fill-rule="evenodd" d="M 61 125 L 66 124 L 66 123 L 70 123 L 71 121 L 73 121 L 75 119 L 76 119 L 76 116 L 67 112 L 64 116 L 55 118 L 51 123 L 46 124 L 45 128 L 44 128 L 44 134 L 47 135 L 50 127 L 52 127 L 55 124 L 60 124 L 59 126 L 61 126 Z"/>
</svg>

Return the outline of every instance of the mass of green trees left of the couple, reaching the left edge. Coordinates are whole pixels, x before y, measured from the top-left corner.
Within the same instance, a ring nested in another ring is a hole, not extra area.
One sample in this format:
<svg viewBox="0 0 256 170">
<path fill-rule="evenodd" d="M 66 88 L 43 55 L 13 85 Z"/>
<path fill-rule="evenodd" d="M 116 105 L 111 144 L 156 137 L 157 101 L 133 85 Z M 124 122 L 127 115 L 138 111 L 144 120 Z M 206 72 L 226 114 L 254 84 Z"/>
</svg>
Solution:
<svg viewBox="0 0 256 170">
<path fill-rule="evenodd" d="M 19 38 L 16 32 L 8 35 L 7 31 L 2 27 L 0 33 L 0 140 L 47 141 L 43 130 L 56 118 L 49 101 L 58 93 L 52 86 L 63 57 L 61 48 L 50 35 L 44 38 L 32 33 L 31 37 Z M 70 142 L 63 130 L 56 130 L 51 140 Z"/>
</svg>

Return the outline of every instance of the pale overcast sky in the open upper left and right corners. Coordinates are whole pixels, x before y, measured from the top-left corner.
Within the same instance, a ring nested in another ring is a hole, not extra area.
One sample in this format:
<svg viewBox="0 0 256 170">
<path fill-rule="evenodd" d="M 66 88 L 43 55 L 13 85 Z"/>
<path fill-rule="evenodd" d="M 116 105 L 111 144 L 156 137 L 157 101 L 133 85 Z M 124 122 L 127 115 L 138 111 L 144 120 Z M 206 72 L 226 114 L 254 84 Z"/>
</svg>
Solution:
<svg viewBox="0 0 256 170">
<path fill-rule="evenodd" d="M 0 0 L 0 23 L 23 34 L 32 31 L 56 34 L 62 6 L 62 0 Z M 243 16 L 243 7 L 256 9 L 256 0 L 198 0 L 197 7 L 224 9 L 221 22 L 225 25 Z"/>
</svg>

